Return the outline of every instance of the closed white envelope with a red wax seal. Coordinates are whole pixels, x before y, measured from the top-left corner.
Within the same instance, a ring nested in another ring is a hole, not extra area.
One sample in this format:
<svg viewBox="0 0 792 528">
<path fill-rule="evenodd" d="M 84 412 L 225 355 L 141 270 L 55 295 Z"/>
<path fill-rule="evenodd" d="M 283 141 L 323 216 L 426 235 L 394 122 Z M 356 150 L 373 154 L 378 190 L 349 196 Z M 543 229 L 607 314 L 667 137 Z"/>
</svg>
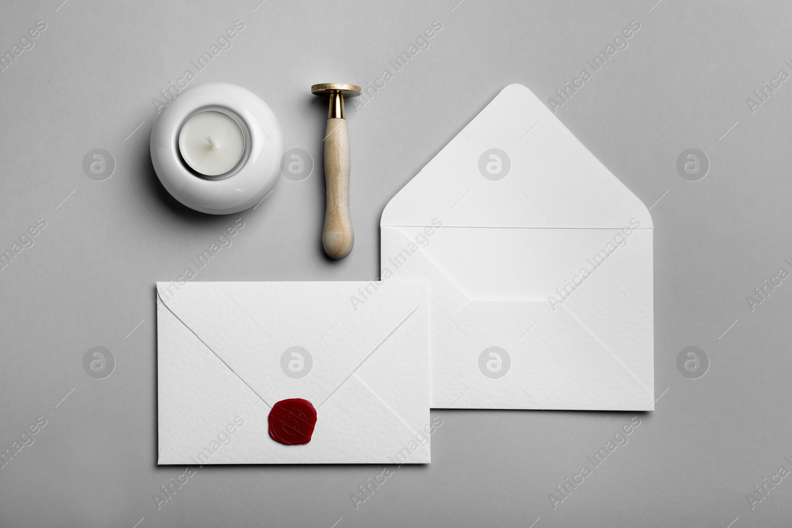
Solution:
<svg viewBox="0 0 792 528">
<path fill-rule="evenodd" d="M 158 464 L 430 462 L 425 281 L 157 289 Z"/>
</svg>

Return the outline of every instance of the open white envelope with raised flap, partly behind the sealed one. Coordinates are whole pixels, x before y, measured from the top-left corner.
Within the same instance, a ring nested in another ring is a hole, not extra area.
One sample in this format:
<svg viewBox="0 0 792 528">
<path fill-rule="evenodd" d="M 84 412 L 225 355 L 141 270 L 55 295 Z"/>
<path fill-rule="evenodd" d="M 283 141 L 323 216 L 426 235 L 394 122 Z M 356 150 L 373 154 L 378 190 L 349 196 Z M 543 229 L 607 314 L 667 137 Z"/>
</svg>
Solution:
<svg viewBox="0 0 792 528">
<path fill-rule="evenodd" d="M 653 410 L 652 218 L 525 86 L 380 227 L 383 279 L 430 281 L 432 407 Z"/>
</svg>

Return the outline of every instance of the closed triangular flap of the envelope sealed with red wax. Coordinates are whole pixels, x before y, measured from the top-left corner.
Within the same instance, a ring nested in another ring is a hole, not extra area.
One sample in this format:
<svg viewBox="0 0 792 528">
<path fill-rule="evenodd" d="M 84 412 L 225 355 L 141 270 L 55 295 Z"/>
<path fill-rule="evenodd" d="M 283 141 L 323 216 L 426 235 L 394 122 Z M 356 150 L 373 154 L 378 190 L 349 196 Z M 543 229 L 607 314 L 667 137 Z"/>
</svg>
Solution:
<svg viewBox="0 0 792 528">
<path fill-rule="evenodd" d="M 425 297 L 416 282 L 361 284 L 187 283 L 164 302 L 268 405 L 318 407 Z"/>
</svg>

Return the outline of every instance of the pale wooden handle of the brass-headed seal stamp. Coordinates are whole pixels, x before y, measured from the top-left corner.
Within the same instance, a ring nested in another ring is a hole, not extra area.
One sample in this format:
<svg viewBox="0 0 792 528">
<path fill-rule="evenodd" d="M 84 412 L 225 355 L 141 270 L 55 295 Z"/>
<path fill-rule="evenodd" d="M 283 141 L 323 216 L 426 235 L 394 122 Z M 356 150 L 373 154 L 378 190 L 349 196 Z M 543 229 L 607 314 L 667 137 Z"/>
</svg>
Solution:
<svg viewBox="0 0 792 528">
<path fill-rule="evenodd" d="M 349 215 L 349 135 L 346 120 L 331 117 L 325 130 L 325 192 L 327 207 L 322 245 L 334 259 L 352 251 L 355 234 Z"/>
</svg>

